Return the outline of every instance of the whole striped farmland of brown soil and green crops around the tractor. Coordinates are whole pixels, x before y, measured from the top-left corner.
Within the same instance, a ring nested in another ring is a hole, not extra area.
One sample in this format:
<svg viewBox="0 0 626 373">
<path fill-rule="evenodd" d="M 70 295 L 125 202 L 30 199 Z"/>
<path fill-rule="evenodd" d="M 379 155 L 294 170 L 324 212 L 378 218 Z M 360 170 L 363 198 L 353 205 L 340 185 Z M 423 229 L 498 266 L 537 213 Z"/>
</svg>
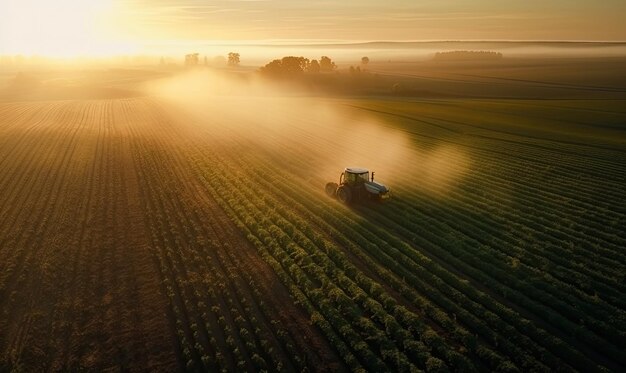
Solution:
<svg viewBox="0 0 626 373">
<path fill-rule="evenodd" d="M 619 371 L 621 75 L 376 69 L 430 88 L 0 103 L 0 370 Z"/>
</svg>

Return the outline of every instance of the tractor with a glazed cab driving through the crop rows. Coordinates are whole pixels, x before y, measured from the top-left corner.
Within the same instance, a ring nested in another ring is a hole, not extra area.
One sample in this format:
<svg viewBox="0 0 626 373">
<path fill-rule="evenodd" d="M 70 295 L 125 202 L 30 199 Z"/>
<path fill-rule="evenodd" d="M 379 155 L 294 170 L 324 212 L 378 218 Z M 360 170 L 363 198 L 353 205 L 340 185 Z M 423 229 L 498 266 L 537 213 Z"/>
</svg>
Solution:
<svg viewBox="0 0 626 373">
<path fill-rule="evenodd" d="M 364 168 L 346 167 L 339 176 L 339 184 L 333 182 L 326 184 L 326 194 L 332 198 L 336 197 L 345 204 L 389 198 L 391 196 L 389 188 L 374 181 L 373 171 L 371 179 L 369 174 L 370 172 Z"/>
</svg>

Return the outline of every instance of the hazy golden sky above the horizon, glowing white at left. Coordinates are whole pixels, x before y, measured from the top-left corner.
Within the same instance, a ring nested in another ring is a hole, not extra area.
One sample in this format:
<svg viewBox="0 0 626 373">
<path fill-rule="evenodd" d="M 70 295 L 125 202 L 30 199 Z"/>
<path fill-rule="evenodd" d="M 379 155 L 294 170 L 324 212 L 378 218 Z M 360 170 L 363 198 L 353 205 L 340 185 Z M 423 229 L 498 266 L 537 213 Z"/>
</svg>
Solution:
<svg viewBox="0 0 626 373">
<path fill-rule="evenodd" d="M 626 41 L 624 0 L 0 0 L 0 54 L 141 53 L 154 44 Z"/>
</svg>

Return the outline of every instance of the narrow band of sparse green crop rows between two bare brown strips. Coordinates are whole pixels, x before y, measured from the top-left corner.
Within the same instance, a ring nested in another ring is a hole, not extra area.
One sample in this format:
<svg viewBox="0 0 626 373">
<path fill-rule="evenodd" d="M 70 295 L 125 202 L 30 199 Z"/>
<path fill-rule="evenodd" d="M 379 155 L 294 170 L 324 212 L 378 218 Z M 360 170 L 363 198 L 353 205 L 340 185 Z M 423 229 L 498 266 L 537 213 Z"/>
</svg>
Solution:
<svg viewBox="0 0 626 373">
<path fill-rule="evenodd" d="M 233 253 L 242 249 L 214 227 L 219 221 L 204 223 L 210 211 L 189 204 L 188 184 L 173 183 L 181 180 L 172 172 L 180 160 L 167 140 L 168 123 L 159 124 L 151 140 L 136 142 L 134 153 L 181 364 L 189 370 L 302 369 L 305 355 Z"/>
</svg>

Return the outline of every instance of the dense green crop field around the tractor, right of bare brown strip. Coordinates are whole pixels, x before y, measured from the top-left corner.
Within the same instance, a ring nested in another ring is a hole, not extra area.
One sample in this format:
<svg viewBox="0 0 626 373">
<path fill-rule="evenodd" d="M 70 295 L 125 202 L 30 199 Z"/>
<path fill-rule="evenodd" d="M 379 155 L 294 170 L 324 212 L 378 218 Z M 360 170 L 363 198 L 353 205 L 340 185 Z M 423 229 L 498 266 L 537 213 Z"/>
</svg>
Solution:
<svg viewBox="0 0 626 373">
<path fill-rule="evenodd" d="M 384 153 L 384 136 L 333 137 L 338 159 L 380 163 L 388 203 L 324 201 L 327 180 L 299 170 L 333 151 L 303 157 L 327 139 L 295 117 L 305 144 L 263 160 L 242 142 L 241 158 L 202 172 L 350 369 L 624 364 L 623 101 L 335 103 L 405 136 L 382 162 L 362 153 Z"/>
</svg>

